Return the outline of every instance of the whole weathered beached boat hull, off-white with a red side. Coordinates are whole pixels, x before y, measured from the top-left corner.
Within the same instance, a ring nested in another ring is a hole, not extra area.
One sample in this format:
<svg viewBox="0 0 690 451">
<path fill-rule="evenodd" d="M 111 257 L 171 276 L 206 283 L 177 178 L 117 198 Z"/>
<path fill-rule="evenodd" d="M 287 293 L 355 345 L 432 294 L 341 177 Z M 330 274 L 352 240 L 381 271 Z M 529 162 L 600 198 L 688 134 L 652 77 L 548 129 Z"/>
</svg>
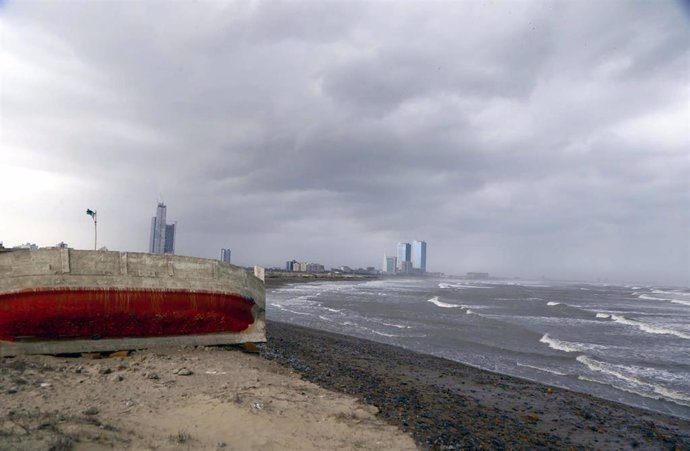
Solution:
<svg viewBox="0 0 690 451">
<path fill-rule="evenodd" d="M 0 253 L 0 356 L 265 341 L 263 282 L 193 257 Z"/>
</svg>

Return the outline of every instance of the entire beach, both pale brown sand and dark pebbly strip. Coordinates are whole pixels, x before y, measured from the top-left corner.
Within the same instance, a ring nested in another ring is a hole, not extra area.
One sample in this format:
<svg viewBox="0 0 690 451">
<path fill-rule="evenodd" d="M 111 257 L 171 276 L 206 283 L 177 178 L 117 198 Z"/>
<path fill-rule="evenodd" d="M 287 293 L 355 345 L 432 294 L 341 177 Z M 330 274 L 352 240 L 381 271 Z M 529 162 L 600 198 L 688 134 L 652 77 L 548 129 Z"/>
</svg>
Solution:
<svg viewBox="0 0 690 451">
<path fill-rule="evenodd" d="M 690 424 L 272 322 L 258 353 L 0 361 L 1 450 L 690 449 Z"/>
</svg>

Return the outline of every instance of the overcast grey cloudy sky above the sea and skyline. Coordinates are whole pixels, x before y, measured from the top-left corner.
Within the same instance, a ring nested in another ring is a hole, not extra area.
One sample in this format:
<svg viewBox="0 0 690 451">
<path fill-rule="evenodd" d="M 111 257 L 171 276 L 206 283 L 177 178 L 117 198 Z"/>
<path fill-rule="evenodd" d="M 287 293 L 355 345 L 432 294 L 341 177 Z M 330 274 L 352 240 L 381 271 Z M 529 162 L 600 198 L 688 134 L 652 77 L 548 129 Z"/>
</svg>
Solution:
<svg viewBox="0 0 690 451">
<path fill-rule="evenodd" d="M 0 2 L 0 241 L 690 285 L 671 1 Z"/>
</svg>

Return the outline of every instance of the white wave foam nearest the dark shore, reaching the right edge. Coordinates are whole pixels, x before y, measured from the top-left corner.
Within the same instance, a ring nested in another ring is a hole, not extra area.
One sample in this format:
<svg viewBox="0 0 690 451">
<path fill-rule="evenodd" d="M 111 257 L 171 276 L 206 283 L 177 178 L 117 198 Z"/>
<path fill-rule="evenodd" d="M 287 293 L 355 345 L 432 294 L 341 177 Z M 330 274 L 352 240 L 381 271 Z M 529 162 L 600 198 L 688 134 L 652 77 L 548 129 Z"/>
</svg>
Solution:
<svg viewBox="0 0 690 451">
<path fill-rule="evenodd" d="M 600 384 L 612 385 L 619 390 L 624 390 L 636 395 L 644 396 L 652 399 L 666 398 L 677 404 L 690 406 L 690 396 L 685 393 L 681 393 L 672 388 L 664 387 L 663 385 L 645 382 L 637 377 L 635 373 L 640 372 L 643 368 L 628 367 L 623 365 L 614 365 L 611 363 L 601 362 L 587 355 L 577 356 L 576 360 L 592 371 L 596 371 L 608 376 L 613 376 L 616 379 L 623 381 L 624 385 L 620 384 L 607 384 L 596 379 L 588 378 L 586 376 L 578 376 L 578 379 L 588 380 L 591 382 L 597 382 Z"/>
</svg>

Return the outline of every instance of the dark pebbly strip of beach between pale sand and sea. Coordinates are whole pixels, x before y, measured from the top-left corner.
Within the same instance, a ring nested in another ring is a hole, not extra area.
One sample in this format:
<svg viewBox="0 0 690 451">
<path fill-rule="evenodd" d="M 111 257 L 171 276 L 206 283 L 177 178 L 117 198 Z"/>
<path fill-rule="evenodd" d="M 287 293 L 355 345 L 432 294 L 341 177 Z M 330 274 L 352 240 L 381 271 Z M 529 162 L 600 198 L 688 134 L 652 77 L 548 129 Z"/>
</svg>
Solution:
<svg viewBox="0 0 690 451">
<path fill-rule="evenodd" d="M 424 449 L 690 450 L 690 422 L 354 337 L 270 322 L 261 354 L 357 396 Z"/>
</svg>

